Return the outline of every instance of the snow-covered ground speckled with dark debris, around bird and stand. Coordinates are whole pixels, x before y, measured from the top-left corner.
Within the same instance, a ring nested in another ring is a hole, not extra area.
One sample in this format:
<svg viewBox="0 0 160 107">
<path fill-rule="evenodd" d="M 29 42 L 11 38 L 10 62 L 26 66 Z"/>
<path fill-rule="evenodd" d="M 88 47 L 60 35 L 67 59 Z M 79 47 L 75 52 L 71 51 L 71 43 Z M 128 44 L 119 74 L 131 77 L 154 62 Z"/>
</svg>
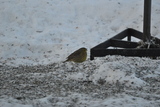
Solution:
<svg viewBox="0 0 160 107">
<path fill-rule="evenodd" d="M 152 36 L 160 38 L 160 1 Z M 0 107 L 159 107 L 160 60 L 89 50 L 143 30 L 143 0 L 0 0 Z M 88 60 L 62 63 L 86 47 Z"/>
</svg>

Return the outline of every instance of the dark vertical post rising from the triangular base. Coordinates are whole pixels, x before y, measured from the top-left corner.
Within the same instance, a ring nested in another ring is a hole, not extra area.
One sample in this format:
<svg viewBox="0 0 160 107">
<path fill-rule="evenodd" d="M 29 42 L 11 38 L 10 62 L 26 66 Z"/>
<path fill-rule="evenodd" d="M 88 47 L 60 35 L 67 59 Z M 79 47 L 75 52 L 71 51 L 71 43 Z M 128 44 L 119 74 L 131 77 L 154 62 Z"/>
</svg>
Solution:
<svg viewBox="0 0 160 107">
<path fill-rule="evenodd" d="M 150 42 L 151 0 L 144 0 L 143 41 Z"/>
</svg>

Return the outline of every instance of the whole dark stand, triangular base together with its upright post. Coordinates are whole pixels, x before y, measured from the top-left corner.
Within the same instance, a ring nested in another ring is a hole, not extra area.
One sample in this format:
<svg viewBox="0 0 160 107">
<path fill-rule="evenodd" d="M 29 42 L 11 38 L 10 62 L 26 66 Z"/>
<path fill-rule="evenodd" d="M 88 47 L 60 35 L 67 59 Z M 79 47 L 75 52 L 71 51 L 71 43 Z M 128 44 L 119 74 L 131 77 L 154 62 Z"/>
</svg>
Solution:
<svg viewBox="0 0 160 107">
<path fill-rule="evenodd" d="M 153 38 L 150 34 L 151 20 L 151 0 L 144 0 L 144 24 L 143 33 L 137 30 L 128 28 L 109 40 L 93 47 L 90 50 L 90 59 L 94 57 L 104 57 L 106 55 L 122 55 L 132 57 L 157 57 L 160 56 L 160 48 L 137 48 L 139 42 L 131 41 L 131 37 L 138 38 L 143 42 L 150 42 Z M 127 41 L 122 39 L 127 37 Z M 159 39 L 155 38 L 156 41 Z M 108 49 L 109 47 L 118 47 L 122 49 Z"/>
</svg>

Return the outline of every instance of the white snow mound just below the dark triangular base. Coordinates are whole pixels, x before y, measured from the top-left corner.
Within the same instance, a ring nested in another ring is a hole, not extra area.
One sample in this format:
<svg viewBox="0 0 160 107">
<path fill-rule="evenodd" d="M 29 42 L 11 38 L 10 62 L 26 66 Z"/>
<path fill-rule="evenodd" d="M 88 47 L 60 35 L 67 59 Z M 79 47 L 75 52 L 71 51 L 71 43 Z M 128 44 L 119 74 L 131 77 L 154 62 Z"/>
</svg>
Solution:
<svg viewBox="0 0 160 107">
<path fill-rule="evenodd" d="M 137 78 L 133 71 L 128 71 L 120 62 L 102 64 L 90 77 L 96 84 L 99 79 L 104 79 L 109 84 L 120 82 L 126 86 L 143 86 L 145 81 Z"/>
</svg>

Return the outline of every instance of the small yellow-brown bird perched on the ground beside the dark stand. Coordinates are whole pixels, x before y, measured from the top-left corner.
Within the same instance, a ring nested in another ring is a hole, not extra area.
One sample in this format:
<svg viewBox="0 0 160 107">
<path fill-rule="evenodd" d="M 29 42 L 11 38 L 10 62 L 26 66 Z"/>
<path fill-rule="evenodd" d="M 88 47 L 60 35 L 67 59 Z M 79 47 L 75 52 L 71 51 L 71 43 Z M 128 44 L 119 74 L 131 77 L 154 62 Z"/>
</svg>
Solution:
<svg viewBox="0 0 160 107">
<path fill-rule="evenodd" d="M 81 62 L 84 62 L 86 59 L 87 59 L 87 49 L 83 47 L 76 50 L 71 55 L 69 55 L 67 57 L 67 60 L 64 62 L 73 61 L 76 63 L 81 63 Z"/>
</svg>

